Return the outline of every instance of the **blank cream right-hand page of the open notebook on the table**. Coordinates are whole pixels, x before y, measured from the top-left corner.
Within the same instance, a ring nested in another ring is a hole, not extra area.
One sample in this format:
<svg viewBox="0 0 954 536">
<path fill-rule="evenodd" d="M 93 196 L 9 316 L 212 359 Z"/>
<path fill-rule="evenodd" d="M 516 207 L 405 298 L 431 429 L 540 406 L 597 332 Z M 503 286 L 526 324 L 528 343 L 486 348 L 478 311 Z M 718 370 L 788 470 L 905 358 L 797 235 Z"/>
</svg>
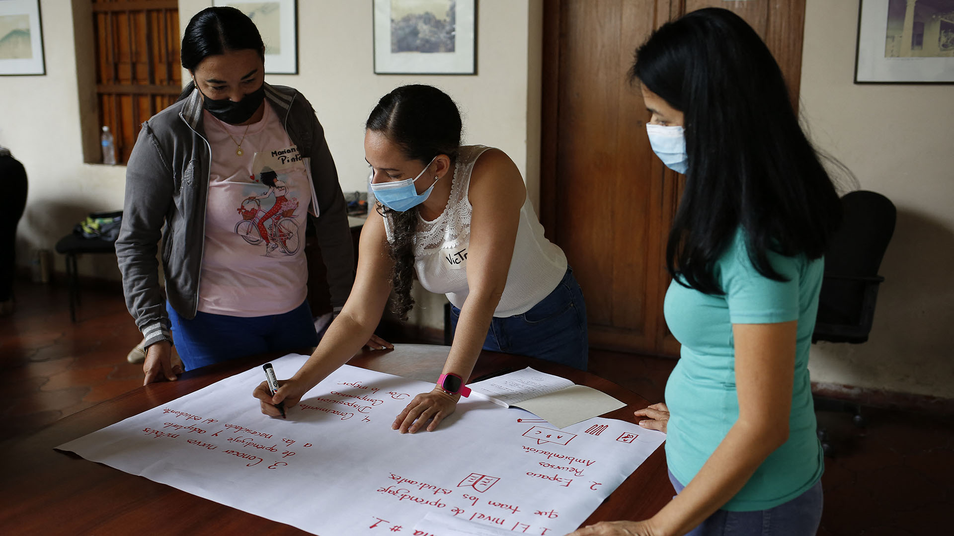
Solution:
<svg viewBox="0 0 954 536">
<path fill-rule="evenodd" d="M 592 387 L 571 385 L 555 393 L 548 393 L 513 405 L 526 409 L 541 419 L 546 419 L 557 428 L 565 428 L 570 424 L 619 409 L 626 404 Z"/>
</svg>

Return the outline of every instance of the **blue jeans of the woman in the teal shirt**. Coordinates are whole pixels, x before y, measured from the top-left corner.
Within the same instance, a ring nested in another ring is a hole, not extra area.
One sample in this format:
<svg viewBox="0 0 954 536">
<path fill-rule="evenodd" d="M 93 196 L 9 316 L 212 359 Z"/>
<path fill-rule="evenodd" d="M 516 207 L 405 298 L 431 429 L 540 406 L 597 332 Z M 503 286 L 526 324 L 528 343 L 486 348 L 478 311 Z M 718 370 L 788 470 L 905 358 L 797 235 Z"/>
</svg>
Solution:
<svg viewBox="0 0 954 536">
<path fill-rule="evenodd" d="M 672 471 L 669 481 L 676 493 L 682 491 L 684 486 L 675 480 Z M 716 510 L 686 536 L 814 536 L 821 521 L 821 504 L 819 480 L 795 499 L 767 510 Z"/>
</svg>

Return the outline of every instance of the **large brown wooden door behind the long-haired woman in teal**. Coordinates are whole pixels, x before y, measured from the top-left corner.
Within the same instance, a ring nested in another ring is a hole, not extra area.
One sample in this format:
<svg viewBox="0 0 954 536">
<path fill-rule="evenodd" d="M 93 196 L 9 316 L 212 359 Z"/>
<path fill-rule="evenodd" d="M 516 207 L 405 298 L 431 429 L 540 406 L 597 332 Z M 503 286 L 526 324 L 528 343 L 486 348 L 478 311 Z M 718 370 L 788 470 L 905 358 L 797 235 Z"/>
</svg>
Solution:
<svg viewBox="0 0 954 536">
<path fill-rule="evenodd" d="M 678 354 L 662 303 L 684 177 L 653 155 L 649 115 L 627 71 L 654 29 L 708 6 L 736 11 L 759 32 L 797 103 L 804 0 L 544 4 L 541 219 L 583 287 L 595 348 Z"/>
</svg>

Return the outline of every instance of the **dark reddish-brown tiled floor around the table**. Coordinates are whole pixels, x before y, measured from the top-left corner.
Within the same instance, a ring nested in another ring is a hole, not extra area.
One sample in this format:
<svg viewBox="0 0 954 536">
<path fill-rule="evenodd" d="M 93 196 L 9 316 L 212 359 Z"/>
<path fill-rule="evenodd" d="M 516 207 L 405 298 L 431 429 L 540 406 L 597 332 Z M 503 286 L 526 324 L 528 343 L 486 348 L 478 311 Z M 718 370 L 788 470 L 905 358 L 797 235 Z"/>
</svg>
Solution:
<svg viewBox="0 0 954 536">
<path fill-rule="evenodd" d="M 78 323 L 62 288 L 23 282 L 16 312 L 0 317 L 0 427 L 29 433 L 142 382 L 125 361 L 139 340 L 118 290 L 84 289 Z M 591 372 L 650 401 L 662 400 L 675 361 L 594 351 Z M 10 393 L 15 393 L 10 396 Z M 819 412 L 839 448 L 825 459 L 822 536 L 950 533 L 954 505 L 954 418 L 868 410 L 856 428 L 848 414 Z M 0 443 L 0 449 L 3 444 Z"/>
</svg>

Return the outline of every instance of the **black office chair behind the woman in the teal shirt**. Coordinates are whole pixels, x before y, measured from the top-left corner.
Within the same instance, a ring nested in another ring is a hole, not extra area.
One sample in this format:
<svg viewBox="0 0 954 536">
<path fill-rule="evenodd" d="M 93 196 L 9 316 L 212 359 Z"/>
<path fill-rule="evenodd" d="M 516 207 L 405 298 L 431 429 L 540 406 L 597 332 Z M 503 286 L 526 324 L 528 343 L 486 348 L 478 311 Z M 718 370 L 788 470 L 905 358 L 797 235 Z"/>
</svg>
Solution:
<svg viewBox="0 0 954 536">
<path fill-rule="evenodd" d="M 864 190 L 842 196 L 841 207 L 840 229 L 825 254 L 819 314 L 812 342 L 860 344 L 868 340 L 871 332 L 878 285 L 884 280 L 878 270 L 894 234 L 897 210 L 887 197 Z M 854 423 L 864 425 L 858 403 L 816 397 L 815 408 L 852 411 Z M 827 436 L 827 430 L 819 428 L 821 446 L 831 455 L 834 449 Z"/>
</svg>

